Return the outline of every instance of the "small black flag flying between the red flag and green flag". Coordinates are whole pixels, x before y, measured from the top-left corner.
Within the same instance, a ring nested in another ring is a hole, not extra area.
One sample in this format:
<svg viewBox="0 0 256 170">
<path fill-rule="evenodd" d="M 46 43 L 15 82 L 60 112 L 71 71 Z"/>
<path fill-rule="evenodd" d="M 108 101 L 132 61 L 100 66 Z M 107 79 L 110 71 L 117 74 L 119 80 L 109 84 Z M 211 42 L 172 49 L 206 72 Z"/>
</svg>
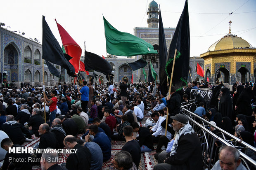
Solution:
<svg viewBox="0 0 256 170">
<path fill-rule="evenodd" d="M 101 72 L 104 75 L 111 74 L 112 66 L 109 62 L 97 54 L 90 53 L 85 50 L 85 70 L 95 70 L 97 72 Z"/>
</svg>

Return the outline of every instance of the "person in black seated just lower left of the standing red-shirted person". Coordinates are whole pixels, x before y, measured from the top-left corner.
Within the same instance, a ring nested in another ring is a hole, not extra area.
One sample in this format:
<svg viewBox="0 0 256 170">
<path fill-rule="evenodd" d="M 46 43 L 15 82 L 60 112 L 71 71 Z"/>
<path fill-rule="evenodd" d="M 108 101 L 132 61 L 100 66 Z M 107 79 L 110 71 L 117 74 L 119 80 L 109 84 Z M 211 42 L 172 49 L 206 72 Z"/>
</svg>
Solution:
<svg viewBox="0 0 256 170">
<path fill-rule="evenodd" d="M 30 130 L 30 134 L 35 134 L 36 137 L 39 137 L 38 129 L 44 122 L 43 117 L 40 115 L 40 110 L 38 108 L 34 108 L 32 110 L 32 116 L 28 120 L 28 130 Z"/>
</svg>

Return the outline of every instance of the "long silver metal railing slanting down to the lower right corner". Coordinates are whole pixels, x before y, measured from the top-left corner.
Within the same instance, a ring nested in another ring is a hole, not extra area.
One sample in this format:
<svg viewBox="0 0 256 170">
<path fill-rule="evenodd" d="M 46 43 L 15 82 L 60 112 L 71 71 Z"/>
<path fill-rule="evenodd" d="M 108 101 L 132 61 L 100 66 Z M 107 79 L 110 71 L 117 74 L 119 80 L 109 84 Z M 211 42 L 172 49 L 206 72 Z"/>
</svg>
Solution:
<svg viewBox="0 0 256 170">
<path fill-rule="evenodd" d="M 193 105 L 195 102 L 192 102 L 188 105 L 185 105 L 181 108 L 181 113 L 187 115 L 190 124 L 194 131 L 198 134 L 201 146 L 202 146 L 202 155 L 204 161 L 204 168 L 210 170 L 213 164 L 218 160 L 218 149 L 221 145 L 228 145 L 235 147 L 237 149 L 250 149 L 256 153 L 256 148 L 252 147 L 251 145 L 247 144 L 246 142 L 240 140 L 239 138 L 231 135 L 230 133 L 226 132 L 225 130 L 219 128 L 211 124 L 209 121 L 201 118 L 197 114 L 194 114 L 189 109 L 189 105 Z M 217 134 L 212 133 L 209 130 L 209 126 L 216 128 L 219 132 Z M 233 140 L 229 140 L 233 139 Z M 220 142 L 218 146 L 216 146 L 216 141 Z M 237 146 L 240 145 L 240 146 Z M 248 170 L 252 170 L 256 168 L 256 161 L 251 159 L 249 156 L 244 154 L 242 151 L 240 152 L 240 158 L 242 159 L 242 163 Z M 209 159 L 209 161 L 207 161 Z"/>
</svg>

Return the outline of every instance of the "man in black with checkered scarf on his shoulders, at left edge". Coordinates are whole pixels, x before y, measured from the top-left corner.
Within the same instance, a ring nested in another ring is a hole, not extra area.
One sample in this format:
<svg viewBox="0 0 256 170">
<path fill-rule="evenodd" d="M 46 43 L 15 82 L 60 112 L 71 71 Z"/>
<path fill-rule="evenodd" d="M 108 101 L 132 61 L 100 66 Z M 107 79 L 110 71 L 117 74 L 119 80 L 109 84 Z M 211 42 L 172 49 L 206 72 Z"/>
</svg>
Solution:
<svg viewBox="0 0 256 170">
<path fill-rule="evenodd" d="M 26 138 L 31 138 L 31 134 L 21 123 L 14 121 L 14 116 L 11 114 L 6 116 L 6 122 L 2 124 L 2 131 L 9 136 L 14 144 L 23 144 L 25 141 L 33 140 Z"/>
</svg>

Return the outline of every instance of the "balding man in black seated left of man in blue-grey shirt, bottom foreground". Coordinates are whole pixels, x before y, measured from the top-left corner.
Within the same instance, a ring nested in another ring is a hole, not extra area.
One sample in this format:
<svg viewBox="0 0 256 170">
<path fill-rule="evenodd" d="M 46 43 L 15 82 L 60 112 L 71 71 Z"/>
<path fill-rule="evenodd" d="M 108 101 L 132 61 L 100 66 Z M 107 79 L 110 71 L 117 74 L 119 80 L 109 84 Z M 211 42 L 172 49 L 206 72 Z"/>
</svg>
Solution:
<svg viewBox="0 0 256 170">
<path fill-rule="evenodd" d="M 76 153 L 70 154 L 66 159 L 68 170 L 90 170 L 91 153 L 87 147 L 83 147 L 76 142 L 76 137 L 67 135 L 63 141 L 66 149 L 77 149 Z"/>
</svg>

